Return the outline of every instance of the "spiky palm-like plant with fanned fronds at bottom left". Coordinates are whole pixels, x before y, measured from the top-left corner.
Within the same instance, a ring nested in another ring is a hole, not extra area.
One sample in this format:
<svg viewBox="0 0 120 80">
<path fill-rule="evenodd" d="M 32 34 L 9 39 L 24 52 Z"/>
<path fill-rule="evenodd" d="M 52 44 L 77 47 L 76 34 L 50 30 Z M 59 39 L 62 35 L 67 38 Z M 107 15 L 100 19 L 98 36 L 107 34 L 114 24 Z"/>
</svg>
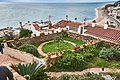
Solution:
<svg viewBox="0 0 120 80">
<path fill-rule="evenodd" d="M 44 80 L 47 78 L 45 66 L 38 65 L 38 63 L 16 64 L 11 67 L 27 80 Z"/>
</svg>

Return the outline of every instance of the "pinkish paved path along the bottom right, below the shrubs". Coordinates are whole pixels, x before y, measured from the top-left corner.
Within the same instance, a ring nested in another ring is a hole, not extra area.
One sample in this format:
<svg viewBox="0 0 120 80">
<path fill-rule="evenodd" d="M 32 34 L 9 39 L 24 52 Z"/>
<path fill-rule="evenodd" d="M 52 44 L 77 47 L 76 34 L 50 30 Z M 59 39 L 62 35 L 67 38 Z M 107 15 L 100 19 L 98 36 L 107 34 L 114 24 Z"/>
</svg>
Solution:
<svg viewBox="0 0 120 80">
<path fill-rule="evenodd" d="M 101 68 L 88 68 L 83 71 L 75 71 L 75 72 L 47 72 L 48 76 L 51 77 L 59 77 L 62 76 L 63 74 L 69 74 L 69 75 L 82 75 L 87 72 L 94 72 L 94 73 L 106 73 L 106 72 L 120 72 L 120 69 L 110 69 L 110 68 L 104 68 L 104 71 L 102 71 Z"/>
</svg>

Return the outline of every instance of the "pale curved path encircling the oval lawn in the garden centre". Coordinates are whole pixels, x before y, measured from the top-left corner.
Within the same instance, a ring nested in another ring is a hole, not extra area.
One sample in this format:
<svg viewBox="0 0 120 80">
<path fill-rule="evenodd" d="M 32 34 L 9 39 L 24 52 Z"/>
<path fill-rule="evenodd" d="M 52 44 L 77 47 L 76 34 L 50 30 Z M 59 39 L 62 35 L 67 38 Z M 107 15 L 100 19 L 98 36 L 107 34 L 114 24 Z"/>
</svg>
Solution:
<svg viewBox="0 0 120 80">
<path fill-rule="evenodd" d="M 43 47 L 45 44 L 50 43 L 50 42 L 53 42 L 53 41 L 54 41 L 54 40 L 52 40 L 52 41 L 47 41 L 47 42 L 42 43 L 42 44 L 37 48 L 39 54 L 46 57 L 47 54 L 42 51 L 42 47 Z M 69 44 L 72 44 L 73 46 L 76 46 L 76 44 L 73 43 L 73 42 L 65 41 L 65 40 L 64 40 L 64 42 L 67 42 L 67 43 L 69 43 Z M 51 58 L 54 58 L 54 57 L 57 57 L 57 56 L 56 56 L 56 55 L 52 55 L 52 56 L 51 56 Z"/>
</svg>

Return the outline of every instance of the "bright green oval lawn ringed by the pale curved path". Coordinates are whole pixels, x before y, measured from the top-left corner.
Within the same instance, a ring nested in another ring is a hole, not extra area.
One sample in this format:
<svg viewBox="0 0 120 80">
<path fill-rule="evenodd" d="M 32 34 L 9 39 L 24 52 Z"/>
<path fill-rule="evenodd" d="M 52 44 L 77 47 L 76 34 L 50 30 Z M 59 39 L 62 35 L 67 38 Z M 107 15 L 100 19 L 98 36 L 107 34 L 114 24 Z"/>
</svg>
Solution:
<svg viewBox="0 0 120 80">
<path fill-rule="evenodd" d="M 45 53 L 55 53 L 63 50 L 71 50 L 74 46 L 67 42 L 50 42 L 43 46 L 42 50 Z"/>
</svg>

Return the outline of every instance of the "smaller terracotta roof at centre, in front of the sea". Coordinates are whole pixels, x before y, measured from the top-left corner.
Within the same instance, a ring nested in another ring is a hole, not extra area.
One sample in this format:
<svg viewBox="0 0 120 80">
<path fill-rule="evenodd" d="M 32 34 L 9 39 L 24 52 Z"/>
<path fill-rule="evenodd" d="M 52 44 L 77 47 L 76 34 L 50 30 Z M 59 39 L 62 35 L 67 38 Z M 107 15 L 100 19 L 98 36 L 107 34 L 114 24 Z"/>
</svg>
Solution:
<svg viewBox="0 0 120 80">
<path fill-rule="evenodd" d="M 55 25 L 53 25 L 54 27 L 66 27 L 66 26 L 70 26 L 70 27 L 76 27 L 78 28 L 79 25 L 82 25 L 82 23 L 79 22 L 73 22 L 73 21 L 68 21 L 68 20 L 61 20 L 58 23 L 56 23 Z"/>
</svg>

